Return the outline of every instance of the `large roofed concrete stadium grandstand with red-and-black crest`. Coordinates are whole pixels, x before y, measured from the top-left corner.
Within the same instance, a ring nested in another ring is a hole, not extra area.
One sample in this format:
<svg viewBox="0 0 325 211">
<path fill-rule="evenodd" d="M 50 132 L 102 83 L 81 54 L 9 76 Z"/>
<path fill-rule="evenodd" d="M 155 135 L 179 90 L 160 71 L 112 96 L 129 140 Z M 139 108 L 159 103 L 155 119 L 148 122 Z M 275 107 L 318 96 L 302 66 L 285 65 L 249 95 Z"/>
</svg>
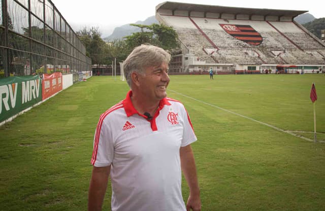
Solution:
<svg viewBox="0 0 325 211">
<path fill-rule="evenodd" d="M 306 12 L 165 2 L 156 19 L 178 34 L 174 73 L 322 72 L 325 44 L 294 21 Z"/>
</svg>

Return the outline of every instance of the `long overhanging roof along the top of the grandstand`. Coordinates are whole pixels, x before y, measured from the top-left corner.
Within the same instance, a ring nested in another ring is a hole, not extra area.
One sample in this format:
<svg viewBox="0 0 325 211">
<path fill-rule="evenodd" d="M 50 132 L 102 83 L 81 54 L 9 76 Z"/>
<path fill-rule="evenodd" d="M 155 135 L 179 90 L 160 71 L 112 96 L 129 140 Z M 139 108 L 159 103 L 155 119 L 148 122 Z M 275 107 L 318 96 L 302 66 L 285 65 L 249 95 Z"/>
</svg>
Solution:
<svg viewBox="0 0 325 211">
<path fill-rule="evenodd" d="M 257 9 L 257 8 L 239 8 L 239 7 L 223 7 L 213 5 L 197 5 L 178 2 L 164 2 L 156 6 L 158 9 L 166 10 L 184 10 L 184 11 L 197 11 L 205 13 L 227 13 L 227 14 L 246 14 L 246 15 L 263 15 L 263 16 L 286 16 L 296 17 L 308 11 L 298 10 L 274 10 L 274 9 Z"/>
</svg>

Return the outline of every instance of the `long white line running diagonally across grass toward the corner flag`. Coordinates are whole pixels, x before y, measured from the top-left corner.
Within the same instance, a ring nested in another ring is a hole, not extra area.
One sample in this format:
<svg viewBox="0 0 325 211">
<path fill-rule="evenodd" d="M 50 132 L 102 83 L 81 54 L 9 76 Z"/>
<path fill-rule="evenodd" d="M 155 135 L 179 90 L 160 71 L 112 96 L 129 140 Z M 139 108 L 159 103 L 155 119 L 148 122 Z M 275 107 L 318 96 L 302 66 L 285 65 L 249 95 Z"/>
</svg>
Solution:
<svg viewBox="0 0 325 211">
<path fill-rule="evenodd" d="M 290 134 L 290 135 L 293 135 L 293 136 L 296 136 L 296 137 L 299 137 L 299 138 L 302 138 L 302 139 L 308 140 L 309 142 L 314 142 L 313 139 L 310 139 L 310 138 L 307 138 L 307 137 L 304 137 L 304 136 L 298 135 L 298 134 L 294 133 L 293 131 L 290 131 L 290 130 L 283 130 L 283 129 L 281 129 L 281 128 L 278 128 L 278 127 L 276 127 L 276 126 L 270 125 L 270 124 L 268 124 L 268 123 L 261 122 L 261 121 L 255 120 L 255 119 L 253 119 L 253 118 L 246 117 L 246 116 L 244 116 L 244 115 L 238 114 L 238 113 L 236 113 L 236 112 L 232 112 L 232 111 L 230 111 L 230 110 L 223 109 L 223 108 L 221 108 L 221 107 L 218 107 L 217 105 L 214 105 L 214 104 L 211 104 L 211 103 L 209 103 L 209 102 L 205 102 L 205 101 L 202 101 L 202 100 L 196 99 L 196 98 L 194 98 L 194 97 L 191 97 L 191 96 L 188 96 L 188 95 L 185 95 L 185 94 L 179 93 L 179 92 L 174 91 L 174 90 L 171 90 L 171 89 L 169 89 L 169 91 L 172 91 L 172 92 L 174 92 L 174 93 L 176 93 L 176 94 L 179 94 L 179 95 L 182 95 L 182 96 L 184 96 L 184 97 L 190 98 L 190 99 L 192 99 L 192 100 L 195 100 L 195 101 L 201 102 L 201 103 L 203 103 L 203 104 L 210 105 L 210 106 L 213 107 L 213 108 L 220 109 L 220 110 L 222 110 L 222 111 L 225 111 L 225 112 L 228 112 L 228 113 L 231 113 L 231 114 L 234 114 L 234 115 L 237 115 L 237 116 L 243 117 L 243 118 L 245 118 L 245 119 L 249 119 L 249 120 L 251 120 L 251 121 L 253 121 L 253 122 L 257 122 L 257 123 L 259 123 L 259 124 L 262 124 L 262 125 L 265 125 L 265 126 L 271 127 L 271 128 L 273 128 L 273 129 L 275 129 L 275 130 L 278 130 L 278 131 L 281 131 L 281 132 L 284 132 L 284 133 L 288 133 L 288 134 Z M 325 142 L 323 142 L 323 141 L 319 141 L 319 142 L 325 143 Z"/>
</svg>

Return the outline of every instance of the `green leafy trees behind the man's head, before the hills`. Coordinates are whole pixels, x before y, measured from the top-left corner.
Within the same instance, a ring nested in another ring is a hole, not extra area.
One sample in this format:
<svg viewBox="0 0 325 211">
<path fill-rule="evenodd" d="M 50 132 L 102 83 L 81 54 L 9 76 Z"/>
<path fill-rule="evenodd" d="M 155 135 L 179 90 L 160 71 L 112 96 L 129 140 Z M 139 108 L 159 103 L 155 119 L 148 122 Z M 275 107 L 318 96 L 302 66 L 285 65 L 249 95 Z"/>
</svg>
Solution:
<svg viewBox="0 0 325 211">
<path fill-rule="evenodd" d="M 125 60 L 128 54 L 137 46 L 150 43 L 166 50 L 178 48 L 177 33 L 172 27 L 165 25 L 131 24 L 141 28 L 141 32 L 135 32 L 125 40 L 116 40 L 105 43 L 101 38 L 98 28 L 84 27 L 77 32 L 77 36 L 85 45 L 86 55 L 91 58 L 92 64 L 111 64 L 112 61 Z"/>
</svg>

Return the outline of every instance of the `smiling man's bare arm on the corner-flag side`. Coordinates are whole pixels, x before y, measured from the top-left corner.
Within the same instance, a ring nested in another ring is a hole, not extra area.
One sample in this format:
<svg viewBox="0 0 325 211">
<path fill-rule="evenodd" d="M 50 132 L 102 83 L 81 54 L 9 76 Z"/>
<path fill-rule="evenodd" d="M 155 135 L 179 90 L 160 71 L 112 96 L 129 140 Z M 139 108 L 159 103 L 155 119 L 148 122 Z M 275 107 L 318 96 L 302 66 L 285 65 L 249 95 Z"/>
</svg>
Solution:
<svg viewBox="0 0 325 211">
<path fill-rule="evenodd" d="M 181 167 L 189 187 L 186 210 L 201 210 L 200 188 L 195 166 L 194 155 L 190 145 L 180 148 Z"/>
</svg>

